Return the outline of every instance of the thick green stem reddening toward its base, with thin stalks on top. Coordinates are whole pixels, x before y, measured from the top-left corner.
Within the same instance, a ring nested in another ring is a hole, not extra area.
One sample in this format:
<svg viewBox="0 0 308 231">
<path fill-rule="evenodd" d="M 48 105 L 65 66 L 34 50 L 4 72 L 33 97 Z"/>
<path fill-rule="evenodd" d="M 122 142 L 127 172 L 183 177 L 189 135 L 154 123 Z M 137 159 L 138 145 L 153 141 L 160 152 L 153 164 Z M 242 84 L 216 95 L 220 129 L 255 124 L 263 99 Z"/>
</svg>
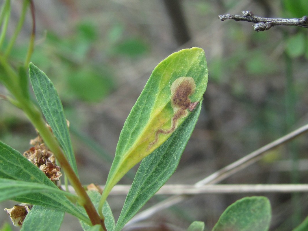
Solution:
<svg viewBox="0 0 308 231">
<path fill-rule="evenodd" d="M 69 164 L 58 141 L 56 140 L 52 132 L 49 130 L 49 128 L 47 128 L 45 120 L 43 119 L 42 113 L 37 109 L 37 107 L 34 105 L 34 103 L 31 100 L 24 97 L 24 95 L 22 94 L 22 86 L 20 83 L 20 79 L 17 73 L 14 71 L 14 69 L 7 62 L 6 58 L 10 54 L 10 51 L 13 48 L 13 45 L 24 23 L 26 9 L 27 9 L 29 2 L 31 3 L 33 29 L 31 33 L 28 52 L 26 55 L 25 66 L 28 65 L 30 57 L 33 53 L 34 36 L 35 36 L 34 5 L 33 5 L 32 0 L 24 0 L 20 20 L 18 22 L 18 25 L 14 31 L 12 38 L 10 39 L 9 45 L 6 48 L 5 55 L 0 55 L 0 66 L 3 68 L 3 71 L 7 75 L 5 77 L 1 76 L 1 79 L 3 80 L 3 83 L 8 88 L 8 90 L 11 92 L 11 94 L 14 95 L 16 99 L 14 100 L 14 102 L 16 102 L 15 105 L 17 105 L 19 108 L 21 108 L 24 111 L 26 116 L 29 118 L 30 122 L 38 130 L 40 136 L 44 140 L 44 143 L 51 150 L 51 152 L 54 153 L 57 161 L 59 162 L 59 165 L 61 166 L 61 168 L 63 168 L 65 175 L 67 176 L 68 180 L 71 182 L 72 186 L 74 187 L 75 192 L 78 196 L 78 202 L 86 210 L 87 215 L 89 216 L 92 225 L 101 225 L 102 229 L 107 231 L 105 224 L 104 224 L 104 219 L 101 219 L 99 217 L 99 214 L 97 213 L 90 197 L 88 196 L 85 188 L 83 188 L 73 168 Z M 3 42 L 4 35 L 6 34 L 7 23 L 8 23 L 8 19 L 10 15 L 10 0 L 7 0 L 6 4 L 8 4 L 8 6 L 6 5 L 2 10 L 2 14 L 3 13 L 6 14 L 5 15 L 6 17 L 5 17 L 4 25 L 2 27 L 3 28 L 2 34 L 0 35 L 0 45 L 2 45 L 1 43 Z M 0 15 L 0 17 L 2 18 L 4 16 Z M 1 18 L 0 20 L 2 20 Z"/>
</svg>

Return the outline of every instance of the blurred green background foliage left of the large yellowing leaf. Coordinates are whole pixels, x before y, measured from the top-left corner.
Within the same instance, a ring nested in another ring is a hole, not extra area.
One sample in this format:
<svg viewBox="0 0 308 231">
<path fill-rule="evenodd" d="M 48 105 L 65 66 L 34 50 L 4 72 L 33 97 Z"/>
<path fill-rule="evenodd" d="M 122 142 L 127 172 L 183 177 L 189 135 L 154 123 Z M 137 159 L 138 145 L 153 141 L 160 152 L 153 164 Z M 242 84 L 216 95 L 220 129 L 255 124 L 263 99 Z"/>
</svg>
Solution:
<svg viewBox="0 0 308 231">
<path fill-rule="evenodd" d="M 82 21 L 69 35 L 60 37 L 47 31 L 35 47 L 31 61 L 51 76 L 64 101 L 101 101 L 116 87 L 110 60 L 121 56 L 135 59 L 148 52 L 142 39 L 125 37 L 124 27 L 119 24 L 107 32 L 107 51 L 101 50 L 103 41 L 98 34 L 95 23 Z M 26 48 L 26 44 L 15 47 L 12 57 L 22 60 Z"/>
</svg>

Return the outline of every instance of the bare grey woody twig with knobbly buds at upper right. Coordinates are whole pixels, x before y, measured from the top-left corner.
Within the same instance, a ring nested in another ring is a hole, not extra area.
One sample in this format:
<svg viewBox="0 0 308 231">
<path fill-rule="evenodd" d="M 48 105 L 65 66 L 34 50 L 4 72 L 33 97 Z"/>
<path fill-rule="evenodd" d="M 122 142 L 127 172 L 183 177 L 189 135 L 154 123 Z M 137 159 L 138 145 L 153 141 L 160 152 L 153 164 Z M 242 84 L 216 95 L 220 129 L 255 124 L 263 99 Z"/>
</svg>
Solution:
<svg viewBox="0 0 308 231">
<path fill-rule="evenodd" d="M 221 21 L 233 19 L 235 21 L 254 22 L 253 29 L 255 31 L 269 30 L 272 26 L 299 26 L 308 28 L 308 17 L 302 18 L 263 18 L 254 16 L 251 11 L 242 11 L 243 16 L 236 14 L 218 15 Z"/>
</svg>

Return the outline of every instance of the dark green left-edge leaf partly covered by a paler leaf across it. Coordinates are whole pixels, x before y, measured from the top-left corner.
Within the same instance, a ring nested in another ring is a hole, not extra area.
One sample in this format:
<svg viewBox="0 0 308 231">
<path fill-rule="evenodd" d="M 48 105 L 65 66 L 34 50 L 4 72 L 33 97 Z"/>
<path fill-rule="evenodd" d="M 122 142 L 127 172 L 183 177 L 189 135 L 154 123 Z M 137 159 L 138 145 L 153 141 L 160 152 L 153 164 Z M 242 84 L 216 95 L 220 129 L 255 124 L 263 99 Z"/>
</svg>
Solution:
<svg viewBox="0 0 308 231">
<path fill-rule="evenodd" d="M 60 189 L 34 164 L 18 151 L 0 141 L 0 178 L 26 181 L 47 185 L 60 191 Z M 59 193 L 28 193 L 14 197 L 15 201 L 51 207 L 89 222 L 63 194 Z"/>
</svg>

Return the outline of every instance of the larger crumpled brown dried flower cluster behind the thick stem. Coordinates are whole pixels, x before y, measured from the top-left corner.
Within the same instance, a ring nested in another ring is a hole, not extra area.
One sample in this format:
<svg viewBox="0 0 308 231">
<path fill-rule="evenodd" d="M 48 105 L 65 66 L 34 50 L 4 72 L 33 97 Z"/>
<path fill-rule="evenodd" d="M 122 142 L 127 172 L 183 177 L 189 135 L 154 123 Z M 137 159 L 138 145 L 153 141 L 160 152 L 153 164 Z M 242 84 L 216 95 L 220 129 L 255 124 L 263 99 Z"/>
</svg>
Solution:
<svg viewBox="0 0 308 231">
<path fill-rule="evenodd" d="M 60 167 L 55 164 L 55 155 L 45 146 L 42 137 L 37 136 L 30 141 L 30 144 L 33 147 L 24 152 L 23 155 L 39 167 L 50 180 L 53 182 L 59 180 L 62 176 Z"/>
</svg>

